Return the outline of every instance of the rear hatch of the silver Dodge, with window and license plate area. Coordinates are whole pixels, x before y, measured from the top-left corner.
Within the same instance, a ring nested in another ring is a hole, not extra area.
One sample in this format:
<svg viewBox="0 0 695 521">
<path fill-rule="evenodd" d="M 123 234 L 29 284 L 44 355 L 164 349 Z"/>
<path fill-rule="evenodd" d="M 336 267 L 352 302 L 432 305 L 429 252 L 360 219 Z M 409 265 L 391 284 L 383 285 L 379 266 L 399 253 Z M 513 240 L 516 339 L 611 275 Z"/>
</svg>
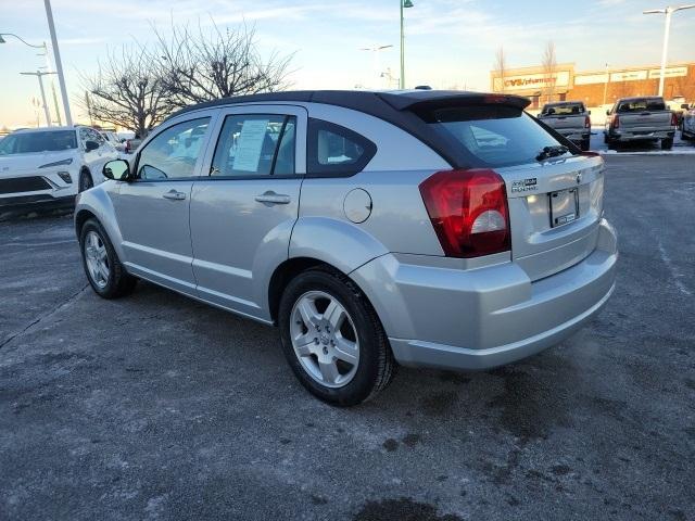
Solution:
<svg viewBox="0 0 695 521">
<path fill-rule="evenodd" d="M 518 100 L 464 99 L 447 106 L 420 105 L 415 112 L 453 157 L 452 166 L 492 169 L 504 179 L 511 258 L 539 280 L 595 250 L 604 163 L 599 156 L 564 147 L 523 112 L 526 103 Z"/>
</svg>

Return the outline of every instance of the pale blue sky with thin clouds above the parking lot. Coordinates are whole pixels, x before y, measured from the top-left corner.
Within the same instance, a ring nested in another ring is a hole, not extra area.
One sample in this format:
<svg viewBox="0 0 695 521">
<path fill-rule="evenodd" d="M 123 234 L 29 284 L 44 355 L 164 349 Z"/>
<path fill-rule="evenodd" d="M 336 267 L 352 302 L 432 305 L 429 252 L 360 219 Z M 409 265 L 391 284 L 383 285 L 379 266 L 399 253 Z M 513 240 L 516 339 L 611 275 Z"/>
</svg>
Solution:
<svg viewBox="0 0 695 521">
<path fill-rule="evenodd" d="M 547 41 L 558 63 L 577 71 L 657 65 L 664 15 L 643 15 L 668 0 L 413 0 L 405 10 L 406 87 L 490 90 L 489 74 L 503 46 L 508 67 L 541 62 Z M 399 76 L 399 0 L 52 0 L 73 118 L 86 122 L 75 100 L 80 76 L 134 41 L 167 34 L 172 23 L 255 27 L 263 53 L 293 54 L 296 89 L 387 88 L 379 73 Z M 686 3 L 686 2 L 683 2 Z M 50 35 L 43 0 L 0 0 L 0 33 L 30 43 Z M 0 45 L 0 127 L 36 125 L 38 81 L 21 72 L 45 65 L 35 49 L 12 37 Z M 361 50 L 393 45 L 378 53 Z M 695 9 L 673 16 L 669 62 L 695 61 Z M 58 81 L 55 81 L 58 88 Z M 392 85 L 393 86 L 393 85 Z M 48 87 L 48 81 L 47 81 Z M 50 90 L 49 90 L 50 96 Z M 50 103 L 52 106 L 52 103 Z M 42 113 L 41 119 L 42 119 Z"/>
</svg>

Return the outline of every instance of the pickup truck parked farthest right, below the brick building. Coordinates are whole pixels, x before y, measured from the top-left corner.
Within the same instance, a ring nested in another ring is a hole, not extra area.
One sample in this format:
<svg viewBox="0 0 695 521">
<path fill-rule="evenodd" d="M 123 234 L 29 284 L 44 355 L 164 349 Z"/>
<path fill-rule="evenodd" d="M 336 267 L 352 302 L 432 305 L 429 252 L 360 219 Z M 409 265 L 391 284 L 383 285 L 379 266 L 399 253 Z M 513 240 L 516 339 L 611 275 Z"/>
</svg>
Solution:
<svg viewBox="0 0 695 521">
<path fill-rule="evenodd" d="M 661 149 L 673 147 L 678 118 L 664 98 L 621 98 L 606 111 L 604 141 L 608 147 L 628 141 L 658 141 Z"/>
</svg>

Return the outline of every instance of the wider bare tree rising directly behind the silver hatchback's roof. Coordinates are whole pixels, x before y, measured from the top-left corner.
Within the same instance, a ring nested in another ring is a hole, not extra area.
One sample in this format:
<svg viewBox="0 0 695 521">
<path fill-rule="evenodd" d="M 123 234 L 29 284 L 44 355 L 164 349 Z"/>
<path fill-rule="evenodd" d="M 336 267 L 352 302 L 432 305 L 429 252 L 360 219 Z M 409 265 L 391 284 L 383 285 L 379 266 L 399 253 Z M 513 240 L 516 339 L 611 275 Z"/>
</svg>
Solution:
<svg viewBox="0 0 695 521">
<path fill-rule="evenodd" d="M 177 106 L 230 96 L 286 89 L 292 55 L 262 56 L 255 30 L 245 25 L 225 29 L 214 23 L 208 31 L 199 24 L 172 27 L 166 38 L 156 31 L 156 52 L 150 67 L 162 78 L 169 101 Z"/>
</svg>

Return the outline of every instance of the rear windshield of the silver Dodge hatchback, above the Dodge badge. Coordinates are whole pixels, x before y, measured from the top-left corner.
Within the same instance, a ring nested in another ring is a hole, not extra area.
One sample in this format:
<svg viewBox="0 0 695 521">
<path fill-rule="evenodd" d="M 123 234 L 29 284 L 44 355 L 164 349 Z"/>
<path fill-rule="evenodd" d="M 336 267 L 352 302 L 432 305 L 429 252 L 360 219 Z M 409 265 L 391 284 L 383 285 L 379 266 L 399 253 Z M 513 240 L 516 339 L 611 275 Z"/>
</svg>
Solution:
<svg viewBox="0 0 695 521">
<path fill-rule="evenodd" d="M 545 147 L 561 144 L 526 112 L 513 106 L 437 109 L 420 116 L 450 145 L 463 147 L 473 167 L 534 163 Z"/>
</svg>

